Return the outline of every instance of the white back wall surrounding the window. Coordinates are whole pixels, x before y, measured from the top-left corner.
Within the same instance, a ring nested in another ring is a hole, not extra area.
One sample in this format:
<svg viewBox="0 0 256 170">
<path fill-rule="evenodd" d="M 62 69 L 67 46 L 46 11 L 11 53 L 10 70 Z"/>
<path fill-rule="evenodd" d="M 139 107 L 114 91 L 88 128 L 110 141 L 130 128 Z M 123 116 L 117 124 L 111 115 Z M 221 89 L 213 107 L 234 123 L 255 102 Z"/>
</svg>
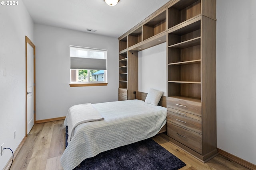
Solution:
<svg viewBox="0 0 256 170">
<path fill-rule="evenodd" d="M 66 116 L 75 104 L 118 100 L 118 39 L 34 25 L 36 45 L 36 120 Z M 70 87 L 69 46 L 108 50 L 108 86 Z"/>
</svg>

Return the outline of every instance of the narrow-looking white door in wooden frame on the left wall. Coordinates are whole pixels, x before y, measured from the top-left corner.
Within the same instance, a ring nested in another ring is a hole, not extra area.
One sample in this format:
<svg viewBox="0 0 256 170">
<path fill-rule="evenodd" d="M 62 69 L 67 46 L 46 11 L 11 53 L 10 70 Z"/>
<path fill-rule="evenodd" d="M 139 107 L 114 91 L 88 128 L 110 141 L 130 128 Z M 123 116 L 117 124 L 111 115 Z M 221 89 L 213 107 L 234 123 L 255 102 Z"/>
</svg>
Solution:
<svg viewBox="0 0 256 170">
<path fill-rule="evenodd" d="M 27 134 L 34 126 L 34 48 L 27 43 Z"/>
</svg>

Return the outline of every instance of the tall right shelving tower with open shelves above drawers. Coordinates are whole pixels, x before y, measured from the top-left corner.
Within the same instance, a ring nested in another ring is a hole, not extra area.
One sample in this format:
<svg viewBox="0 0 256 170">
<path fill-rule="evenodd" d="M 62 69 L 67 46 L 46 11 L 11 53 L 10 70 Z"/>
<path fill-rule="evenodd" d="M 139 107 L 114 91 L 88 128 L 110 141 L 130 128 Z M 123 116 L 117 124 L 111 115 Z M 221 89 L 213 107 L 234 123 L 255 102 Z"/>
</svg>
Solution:
<svg viewBox="0 0 256 170">
<path fill-rule="evenodd" d="M 217 154 L 215 10 L 215 0 L 168 6 L 167 135 L 203 162 Z"/>
</svg>

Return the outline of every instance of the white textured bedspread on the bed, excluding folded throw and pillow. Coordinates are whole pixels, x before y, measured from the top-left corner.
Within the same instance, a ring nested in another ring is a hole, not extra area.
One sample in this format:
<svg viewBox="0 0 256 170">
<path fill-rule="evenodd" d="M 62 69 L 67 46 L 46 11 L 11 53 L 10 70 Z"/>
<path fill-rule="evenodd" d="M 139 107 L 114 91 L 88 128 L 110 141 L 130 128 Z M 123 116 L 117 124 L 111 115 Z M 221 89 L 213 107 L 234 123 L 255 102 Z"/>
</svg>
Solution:
<svg viewBox="0 0 256 170">
<path fill-rule="evenodd" d="M 60 159 L 64 170 L 72 170 L 100 152 L 153 137 L 166 124 L 166 108 L 142 100 L 92 105 L 104 120 L 82 123 L 75 128 L 74 137 Z"/>
</svg>

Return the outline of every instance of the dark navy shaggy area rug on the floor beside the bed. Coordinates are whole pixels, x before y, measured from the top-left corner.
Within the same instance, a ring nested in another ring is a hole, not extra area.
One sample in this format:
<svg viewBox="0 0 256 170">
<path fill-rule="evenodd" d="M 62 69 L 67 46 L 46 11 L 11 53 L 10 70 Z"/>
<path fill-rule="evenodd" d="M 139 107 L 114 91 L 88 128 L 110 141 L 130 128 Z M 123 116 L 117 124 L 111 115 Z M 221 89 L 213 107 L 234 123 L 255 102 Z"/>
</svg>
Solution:
<svg viewBox="0 0 256 170">
<path fill-rule="evenodd" d="M 146 139 L 87 158 L 74 170 L 178 170 L 183 166 L 168 150 Z"/>
</svg>

